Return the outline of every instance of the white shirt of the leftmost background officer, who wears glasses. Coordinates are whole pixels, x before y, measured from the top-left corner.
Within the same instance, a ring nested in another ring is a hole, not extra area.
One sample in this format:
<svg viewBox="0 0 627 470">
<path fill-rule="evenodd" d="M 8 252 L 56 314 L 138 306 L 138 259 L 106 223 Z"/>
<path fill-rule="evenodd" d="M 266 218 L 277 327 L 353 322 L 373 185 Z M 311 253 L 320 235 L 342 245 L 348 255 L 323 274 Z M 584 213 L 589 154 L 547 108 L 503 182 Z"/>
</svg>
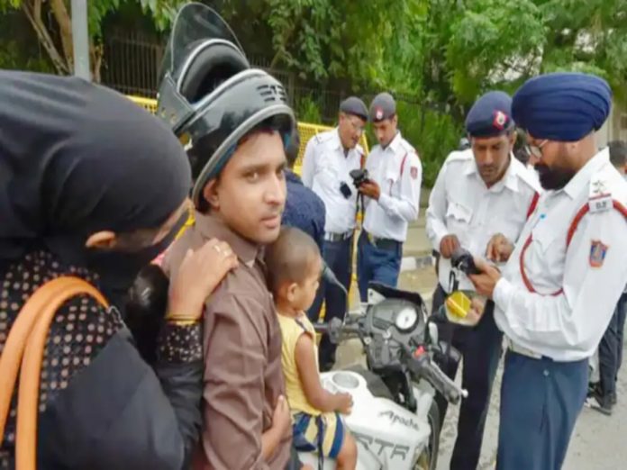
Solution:
<svg viewBox="0 0 627 470">
<path fill-rule="evenodd" d="M 338 129 L 321 132 L 307 142 L 303 160 L 303 184 L 323 200 L 326 209 L 324 231 L 346 233 L 355 228 L 357 189 L 349 173 L 361 167 L 364 150 L 358 144 L 344 155 Z M 350 188 L 349 198 L 344 197 L 342 183 Z"/>
</svg>

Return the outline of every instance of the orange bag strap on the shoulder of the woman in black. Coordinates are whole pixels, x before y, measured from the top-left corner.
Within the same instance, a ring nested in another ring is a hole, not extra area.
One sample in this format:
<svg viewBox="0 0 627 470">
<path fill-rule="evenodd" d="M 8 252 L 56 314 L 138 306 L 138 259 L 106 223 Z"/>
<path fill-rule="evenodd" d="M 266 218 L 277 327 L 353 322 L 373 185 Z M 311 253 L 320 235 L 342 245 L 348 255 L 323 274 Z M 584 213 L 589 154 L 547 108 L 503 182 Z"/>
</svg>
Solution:
<svg viewBox="0 0 627 470">
<path fill-rule="evenodd" d="M 78 277 L 61 276 L 42 285 L 24 303 L 6 339 L 0 357 L 0 444 L 21 362 L 15 442 L 15 464 L 20 470 L 34 470 L 36 466 L 41 361 L 50 322 L 63 303 L 80 294 L 90 295 L 108 308 L 93 285 Z"/>
</svg>

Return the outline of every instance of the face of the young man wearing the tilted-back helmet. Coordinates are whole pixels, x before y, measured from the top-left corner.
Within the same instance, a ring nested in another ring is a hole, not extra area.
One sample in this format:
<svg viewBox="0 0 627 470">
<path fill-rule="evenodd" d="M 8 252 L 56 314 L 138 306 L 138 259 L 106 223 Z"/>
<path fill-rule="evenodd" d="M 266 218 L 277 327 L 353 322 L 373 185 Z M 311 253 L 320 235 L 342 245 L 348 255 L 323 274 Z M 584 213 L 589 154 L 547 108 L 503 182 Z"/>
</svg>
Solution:
<svg viewBox="0 0 627 470">
<path fill-rule="evenodd" d="M 277 240 L 286 203 L 286 154 L 276 131 L 259 131 L 235 150 L 204 197 L 234 231 L 262 245 Z"/>
</svg>

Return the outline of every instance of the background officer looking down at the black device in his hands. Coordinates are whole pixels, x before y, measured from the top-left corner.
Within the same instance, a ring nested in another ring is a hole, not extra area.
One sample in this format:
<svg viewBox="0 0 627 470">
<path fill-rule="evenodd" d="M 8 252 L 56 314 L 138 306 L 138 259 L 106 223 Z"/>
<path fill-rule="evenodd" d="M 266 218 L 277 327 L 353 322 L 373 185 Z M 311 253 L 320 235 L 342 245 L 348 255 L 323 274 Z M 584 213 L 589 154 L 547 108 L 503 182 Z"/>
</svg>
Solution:
<svg viewBox="0 0 627 470">
<path fill-rule="evenodd" d="M 407 225 L 418 218 L 423 179 L 415 149 L 397 130 L 392 95 L 375 96 L 370 120 L 379 145 L 370 151 L 366 162 L 368 180 L 359 185 L 359 192 L 367 196 L 357 258 L 361 302 L 367 301 L 368 283 L 372 281 L 395 287 Z"/>
</svg>

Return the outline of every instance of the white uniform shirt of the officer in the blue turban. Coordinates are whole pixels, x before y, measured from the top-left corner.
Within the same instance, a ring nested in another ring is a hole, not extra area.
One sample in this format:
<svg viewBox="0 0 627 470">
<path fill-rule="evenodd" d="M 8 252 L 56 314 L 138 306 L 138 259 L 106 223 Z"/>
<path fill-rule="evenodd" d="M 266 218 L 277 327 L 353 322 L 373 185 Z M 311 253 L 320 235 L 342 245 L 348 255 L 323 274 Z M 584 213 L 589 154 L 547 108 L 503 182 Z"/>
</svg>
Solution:
<svg viewBox="0 0 627 470">
<path fill-rule="evenodd" d="M 514 346 L 556 361 L 595 353 L 627 282 L 625 207 L 627 183 L 607 149 L 541 195 L 493 295 Z"/>
</svg>

